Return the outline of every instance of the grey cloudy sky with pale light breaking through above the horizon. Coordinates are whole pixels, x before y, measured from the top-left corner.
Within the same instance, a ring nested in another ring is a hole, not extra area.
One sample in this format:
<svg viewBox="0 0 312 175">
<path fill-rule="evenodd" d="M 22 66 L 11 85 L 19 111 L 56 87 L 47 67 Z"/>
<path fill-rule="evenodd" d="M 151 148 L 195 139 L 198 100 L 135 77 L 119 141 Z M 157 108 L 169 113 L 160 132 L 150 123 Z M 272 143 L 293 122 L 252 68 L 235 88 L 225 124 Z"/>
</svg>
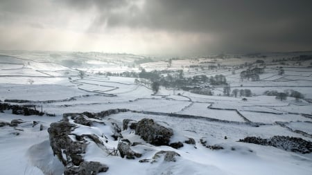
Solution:
<svg viewBox="0 0 312 175">
<path fill-rule="evenodd" d="M 1 0 L 1 50 L 162 55 L 312 50 L 310 0 Z"/>
</svg>

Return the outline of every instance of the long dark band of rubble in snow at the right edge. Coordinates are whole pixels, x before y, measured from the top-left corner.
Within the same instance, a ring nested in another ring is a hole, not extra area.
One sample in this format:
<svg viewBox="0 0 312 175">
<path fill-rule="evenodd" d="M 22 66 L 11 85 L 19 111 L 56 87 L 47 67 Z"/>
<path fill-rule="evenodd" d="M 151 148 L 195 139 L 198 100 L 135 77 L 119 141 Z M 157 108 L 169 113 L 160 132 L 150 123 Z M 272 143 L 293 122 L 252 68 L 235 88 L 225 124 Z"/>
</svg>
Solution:
<svg viewBox="0 0 312 175">
<path fill-rule="evenodd" d="M 312 142 L 302 138 L 294 138 L 289 136 L 273 136 L 272 138 L 246 137 L 239 142 L 254 143 L 257 145 L 266 145 L 284 149 L 286 151 L 299 152 L 309 154 L 312 152 Z"/>
</svg>

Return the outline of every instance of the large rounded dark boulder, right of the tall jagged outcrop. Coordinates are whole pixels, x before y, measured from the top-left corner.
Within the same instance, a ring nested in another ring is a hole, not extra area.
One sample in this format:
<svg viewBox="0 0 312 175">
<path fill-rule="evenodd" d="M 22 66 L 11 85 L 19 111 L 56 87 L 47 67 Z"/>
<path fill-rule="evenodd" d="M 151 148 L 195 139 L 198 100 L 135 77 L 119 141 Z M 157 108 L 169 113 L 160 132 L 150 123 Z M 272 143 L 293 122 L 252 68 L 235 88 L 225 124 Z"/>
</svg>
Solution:
<svg viewBox="0 0 312 175">
<path fill-rule="evenodd" d="M 135 134 L 152 145 L 160 146 L 168 145 L 173 130 L 155 123 L 153 119 L 144 118 L 137 123 Z"/>
</svg>

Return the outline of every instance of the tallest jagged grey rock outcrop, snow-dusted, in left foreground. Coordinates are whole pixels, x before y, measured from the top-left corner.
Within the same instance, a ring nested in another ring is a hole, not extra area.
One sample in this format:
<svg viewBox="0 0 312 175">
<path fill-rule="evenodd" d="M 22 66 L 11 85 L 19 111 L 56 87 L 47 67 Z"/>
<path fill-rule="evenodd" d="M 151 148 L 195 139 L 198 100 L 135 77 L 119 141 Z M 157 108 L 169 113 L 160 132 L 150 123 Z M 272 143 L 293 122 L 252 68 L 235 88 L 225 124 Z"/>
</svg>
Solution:
<svg viewBox="0 0 312 175">
<path fill-rule="evenodd" d="M 74 118 L 74 120 L 76 119 L 80 123 L 88 123 L 87 121 L 89 121 L 86 118 L 82 120 L 80 116 Z M 71 133 L 76 127 L 78 126 L 70 123 L 68 118 L 64 117 L 60 122 L 52 123 L 48 129 L 53 154 L 58 156 L 64 165 L 64 174 L 95 175 L 100 172 L 106 172 L 108 169 L 106 165 L 83 159 L 88 144 L 87 140 L 92 140 L 100 148 L 103 148 L 102 140 L 95 134 L 83 134 L 80 136 Z"/>
</svg>

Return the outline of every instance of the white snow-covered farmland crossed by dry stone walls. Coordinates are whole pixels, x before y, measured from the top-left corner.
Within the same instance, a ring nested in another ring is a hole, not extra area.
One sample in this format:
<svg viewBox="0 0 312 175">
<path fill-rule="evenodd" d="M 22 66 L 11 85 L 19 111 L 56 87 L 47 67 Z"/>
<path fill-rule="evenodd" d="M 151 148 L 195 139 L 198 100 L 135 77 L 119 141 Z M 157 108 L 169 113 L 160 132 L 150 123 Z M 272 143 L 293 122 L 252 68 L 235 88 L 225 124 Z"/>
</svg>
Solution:
<svg viewBox="0 0 312 175">
<path fill-rule="evenodd" d="M 64 167 L 53 156 L 50 147 L 47 132 L 49 125 L 62 119 L 63 113 L 98 113 L 109 109 L 131 111 L 107 116 L 103 118 L 104 122 L 114 121 L 122 127 L 123 119 L 139 121 L 152 118 L 173 129 L 175 134 L 171 138 L 172 142 L 194 138 L 196 145 L 184 144 L 180 149 L 148 144 L 134 147 L 149 150 L 140 159 L 150 158 L 161 150 L 180 154 L 176 162 L 139 163 L 139 159 L 104 156 L 101 149 L 90 144 L 84 158 L 100 161 L 110 167 L 103 174 L 312 174 L 311 153 L 300 154 L 271 146 L 237 142 L 247 136 L 292 136 L 311 141 L 311 103 L 303 99 L 297 101 L 295 98 L 280 101 L 275 96 L 263 95 L 264 91 L 295 89 L 306 98 L 312 98 L 311 68 L 290 66 L 284 68 L 284 75 L 277 75 L 277 70 L 274 69 L 276 66 L 268 66 L 260 81 L 252 82 L 240 80 L 239 73 L 244 68 L 236 69 L 234 75 L 228 68 L 198 71 L 189 68 L 200 62 L 239 65 L 250 62 L 247 58 L 181 59 L 173 60 L 171 67 L 168 67 L 168 62 L 141 64 L 146 70 L 183 69 L 185 77 L 223 74 L 232 89 L 252 91 L 252 97 L 246 97 L 246 101 L 243 101 L 243 97 L 239 96 L 218 95 L 223 93 L 222 87 L 214 89 L 215 94 L 211 96 L 164 87 L 153 95 L 148 87 L 135 84 L 133 77 L 106 77 L 91 73 L 98 70 L 138 71 L 138 68 L 125 66 L 141 59 L 135 55 L 80 55 L 84 60 L 89 58 L 85 61 L 89 65 L 85 70 L 89 73 L 83 79 L 80 79 L 75 68 L 52 62 L 53 58 L 49 55 L 12 53 L 12 56 L 14 57 L 0 56 L 0 102 L 29 100 L 11 104 L 34 104 L 37 110 L 42 108 L 44 112 L 55 116 L 20 116 L 12 114 L 10 110 L 0 113 L 0 123 L 10 123 L 13 119 L 24 120 L 17 127 L 0 127 L 0 174 L 62 174 Z M 64 55 L 62 59 L 71 57 L 73 55 Z M 266 61 L 270 59 L 268 57 Z M 39 125 L 33 126 L 34 121 Z M 42 131 L 40 125 L 43 126 Z M 74 132 L 101 135 L 100 133 L 111 132 L 107 129 L 108 127 L 79 125 Z M 131 142 L 144 142 L 129 129 L 121 133 Z M 223 145 L 225 149 L 208 149 L 200 143 L 200 138 L 207 138 L 209 144 Z M 116 148 L 118 143 L 118 140 L 109 138 L 107 147 Z M 236 151 L 231 150 L 231 147 Z"/>
</svg>

